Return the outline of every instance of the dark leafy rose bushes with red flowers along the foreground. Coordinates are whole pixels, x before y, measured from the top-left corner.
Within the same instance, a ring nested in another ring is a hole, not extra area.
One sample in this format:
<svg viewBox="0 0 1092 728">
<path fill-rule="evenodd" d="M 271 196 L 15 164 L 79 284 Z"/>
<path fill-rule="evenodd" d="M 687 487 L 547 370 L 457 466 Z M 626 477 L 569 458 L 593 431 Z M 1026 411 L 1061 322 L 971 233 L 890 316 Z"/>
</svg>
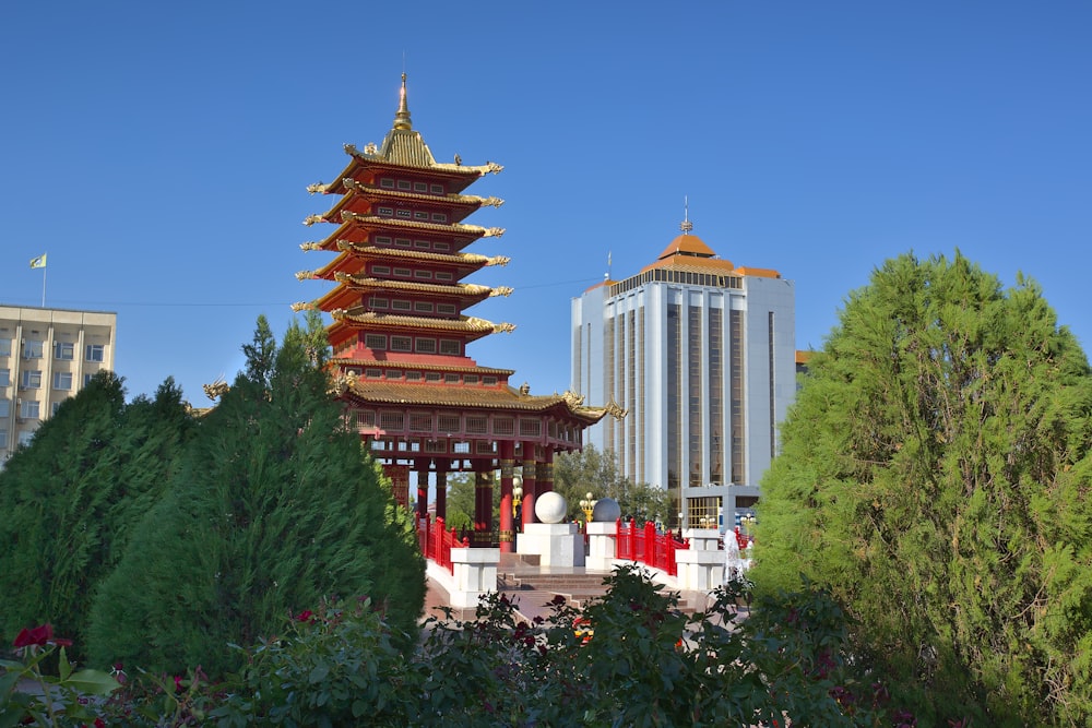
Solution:
<svg viewBox="0 0 1092 728">
<path fill-rule="evenodd" d="M 0 728 L 917 725 L 846 658 L 845 617 L 818 588 L 763 596 L 747 613 L 749 585 L 735 582 L 687 614 L 677 593 L 636 568 L 616 570 L 607 587 L 581 612 L 557 597 L 532 621 L 490 594 L 473 619 L 427 619 L 416 641 L 392 632 L 367 597 L 323 600 L 287 616 L 283 635 L 236 647 L 245 667 L 218 683 L 200 667 L 136 669 L 135 679 L 121 665 L 75 671 L 66 641 L 41 625 L 16 636 L 23 661 L 3 664 Z M 592 625 L 594 639 L 574 624 Z M 57 678 L 40 669 L 51 654 Z"/>
</svg>

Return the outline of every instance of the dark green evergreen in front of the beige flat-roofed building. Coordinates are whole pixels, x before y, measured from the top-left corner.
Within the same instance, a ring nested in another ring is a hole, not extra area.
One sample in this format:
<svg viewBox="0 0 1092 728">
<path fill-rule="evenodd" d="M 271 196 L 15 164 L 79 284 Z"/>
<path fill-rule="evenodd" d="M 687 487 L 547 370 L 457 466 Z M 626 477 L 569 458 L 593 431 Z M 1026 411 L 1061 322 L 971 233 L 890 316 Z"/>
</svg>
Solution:
<svg viewBox="0 0 1092 728">
<path fill-rule="evenodd" d="M 48 621 L 79 654 L 94 588 L 162 496 L 190 422 L 181 394 L 168 380 L 154 402 L 124 396 L 96 374 L 0 473 L 4 633 Z"/>
</svg>

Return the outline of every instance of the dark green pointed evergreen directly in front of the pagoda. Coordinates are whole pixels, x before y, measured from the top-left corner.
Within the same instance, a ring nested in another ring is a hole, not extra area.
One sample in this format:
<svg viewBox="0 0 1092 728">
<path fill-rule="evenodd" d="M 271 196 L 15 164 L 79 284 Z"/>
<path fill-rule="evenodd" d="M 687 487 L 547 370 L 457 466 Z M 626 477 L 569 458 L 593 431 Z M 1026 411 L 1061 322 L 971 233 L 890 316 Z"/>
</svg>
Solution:
<svg viewBox="0 0 1092 728">
<path fill-rule="evenodd" d="M 412 521 L 390 506 L 307 341 L 294 324 L 278 348 L 259 319 L 246 371 L 93 604 L 98 665 L 224 671 L 229 643 L 272 636 L 331 595 L 370 595 L 415 626 L 425 578 Z"/>
</svg>

